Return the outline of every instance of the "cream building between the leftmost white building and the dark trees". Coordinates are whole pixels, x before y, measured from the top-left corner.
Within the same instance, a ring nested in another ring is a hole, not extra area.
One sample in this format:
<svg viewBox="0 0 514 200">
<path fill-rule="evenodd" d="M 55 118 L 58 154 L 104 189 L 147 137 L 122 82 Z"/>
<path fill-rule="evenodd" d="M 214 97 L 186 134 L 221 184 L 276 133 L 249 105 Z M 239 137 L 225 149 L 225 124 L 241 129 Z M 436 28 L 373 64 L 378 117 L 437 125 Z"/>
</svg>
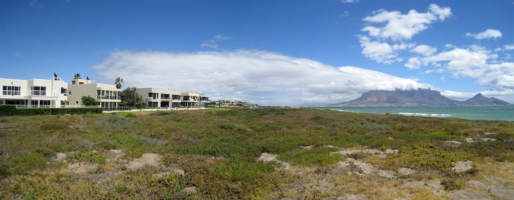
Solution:
<svg viewBox="0 0 514 200">
<path fill-rule="evenodd" d="M 111 84 L 91 83 L 89 79 L 75 78 L 68 85 L 68 102 L 71 106 L 82 105 L 82 96 L 95 98 L 102 108 L 119 107 L 121 90 Z"/>
</svg>

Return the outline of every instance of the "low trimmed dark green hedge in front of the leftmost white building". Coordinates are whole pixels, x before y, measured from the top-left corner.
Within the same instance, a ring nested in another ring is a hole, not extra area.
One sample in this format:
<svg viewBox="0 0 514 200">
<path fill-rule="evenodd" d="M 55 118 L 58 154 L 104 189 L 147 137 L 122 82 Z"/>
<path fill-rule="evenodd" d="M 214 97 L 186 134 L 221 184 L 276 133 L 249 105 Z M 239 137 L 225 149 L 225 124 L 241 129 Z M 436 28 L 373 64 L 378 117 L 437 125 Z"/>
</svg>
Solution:
<svg viewBox="0 0 514 200">
<path fill-rule="evenodd" d="M 86 114 L 102 111 L 103 108 L 16 108 L 15 105 L 0 105 L 0 116 Z"/>
</svg>

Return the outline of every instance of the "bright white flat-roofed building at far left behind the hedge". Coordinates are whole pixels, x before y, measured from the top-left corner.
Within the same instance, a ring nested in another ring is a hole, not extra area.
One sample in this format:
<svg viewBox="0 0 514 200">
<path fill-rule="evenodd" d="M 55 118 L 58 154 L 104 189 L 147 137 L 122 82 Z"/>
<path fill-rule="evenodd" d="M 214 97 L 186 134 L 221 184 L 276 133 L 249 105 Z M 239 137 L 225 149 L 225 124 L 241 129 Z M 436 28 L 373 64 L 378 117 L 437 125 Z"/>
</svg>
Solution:
<svg viewBox="0 0 514 200">
<path fill-rule="evenodd" d="M 27 108 L 66 105 L 68 84 L 58 77 L 30 80 L 0 78 L 0 85 L 0 104 L 23 105 L 21 107 Z"/>
</svg>

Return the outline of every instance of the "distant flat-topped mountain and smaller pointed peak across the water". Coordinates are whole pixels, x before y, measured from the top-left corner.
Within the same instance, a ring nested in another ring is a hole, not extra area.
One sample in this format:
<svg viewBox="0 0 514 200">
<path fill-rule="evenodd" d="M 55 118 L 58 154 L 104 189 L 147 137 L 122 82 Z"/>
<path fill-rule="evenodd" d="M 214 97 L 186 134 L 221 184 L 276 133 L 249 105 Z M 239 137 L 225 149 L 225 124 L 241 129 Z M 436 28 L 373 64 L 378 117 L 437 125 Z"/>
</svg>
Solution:
<svg viewBox="0 0 514 200">
<path fill-rule="evenodd" d="M 456 101 L 431 89 L 371 90 L 349 102 L 330 106 L 511 106 L 498 98 L 477 94 L 464 102 Z"/>
</svg>

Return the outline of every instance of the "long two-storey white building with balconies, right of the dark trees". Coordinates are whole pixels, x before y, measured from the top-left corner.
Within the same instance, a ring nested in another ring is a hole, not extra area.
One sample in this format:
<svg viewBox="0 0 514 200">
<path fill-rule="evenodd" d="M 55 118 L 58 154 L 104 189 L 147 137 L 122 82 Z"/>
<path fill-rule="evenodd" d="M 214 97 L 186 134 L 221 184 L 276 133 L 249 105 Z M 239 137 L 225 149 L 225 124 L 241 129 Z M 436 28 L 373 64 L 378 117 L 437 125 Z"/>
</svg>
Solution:
<svg viewBox="0 0 514 200">
<path fill-rule="evenodd" d="M 137 88 L 136 92 L 153 108 L 206 107 L 209 96 L 196 92 L 178 92 L 159 88 Z"/>
</svg>

